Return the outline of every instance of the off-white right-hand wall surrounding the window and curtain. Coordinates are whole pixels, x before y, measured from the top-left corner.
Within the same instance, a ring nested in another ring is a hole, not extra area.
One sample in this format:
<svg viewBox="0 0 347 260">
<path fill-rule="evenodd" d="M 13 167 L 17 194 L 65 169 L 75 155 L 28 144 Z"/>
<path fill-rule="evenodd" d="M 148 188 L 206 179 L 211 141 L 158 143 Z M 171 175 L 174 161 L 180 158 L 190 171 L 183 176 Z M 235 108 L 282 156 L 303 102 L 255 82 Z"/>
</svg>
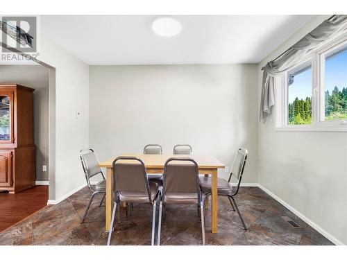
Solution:
<svg viewBox="0 0 347 260">
<path fill-rule="evenodd" d="M 261 68 L 326 19 L 318 16 L 258 64 Z M 347 244 L 347 133 L 276 132 L 274 116 L 259 124 L 258 182 L 335 243 Z"/>
</svg>

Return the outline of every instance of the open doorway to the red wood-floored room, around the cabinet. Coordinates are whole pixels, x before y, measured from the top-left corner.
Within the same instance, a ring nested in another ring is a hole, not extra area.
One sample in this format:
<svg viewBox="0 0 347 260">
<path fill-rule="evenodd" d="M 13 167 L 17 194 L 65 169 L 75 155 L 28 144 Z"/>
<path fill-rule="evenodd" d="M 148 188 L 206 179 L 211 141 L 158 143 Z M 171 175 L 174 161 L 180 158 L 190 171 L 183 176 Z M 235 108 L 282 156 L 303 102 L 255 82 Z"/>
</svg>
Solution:
<svg viewBox="0 0 347 260">
<path fill-rule="evenodd" d="M 0 232 L 42 209 L 49 200 L 50 73 L 49 68 L 40 64 L 0 65 L 1 85 L 22 85 L 35 89 L 33 92 L 35 186 L 15 194 L 0 192 Z"/>
</svg>

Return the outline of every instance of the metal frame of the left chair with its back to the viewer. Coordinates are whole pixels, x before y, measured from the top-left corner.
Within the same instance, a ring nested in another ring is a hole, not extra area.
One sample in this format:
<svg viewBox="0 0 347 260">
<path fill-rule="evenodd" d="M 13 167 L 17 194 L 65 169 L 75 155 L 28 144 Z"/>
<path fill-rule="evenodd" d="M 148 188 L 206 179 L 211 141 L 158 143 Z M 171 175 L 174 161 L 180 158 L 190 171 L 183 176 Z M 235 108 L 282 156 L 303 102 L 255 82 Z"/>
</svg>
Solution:
<svg viewBox="0 0 347 260">
<path fill-rule="evenodd" d="M 117 174 L 115 171 L 115 166 L 117 161 L 119 160 L 136 160 L 140 164 L 142 164 L 144 168 L 144 181 L 146 183 L 146 191 L 149 196 L 149 203 L 153 205 L 153 216 L 152 216 L 152 236 L 151 236 L 151 245 L 154 245 L 154 240 L 155 240 L 155 211 L 156 211 L 156 204 L 157 204 L 157 198 L 160 196 L 160 190 L 158 190 L 157 194 L 155 194 L 155 197 L 152 201 L 151 199 L 151 191 L 149 188 L 149 180 L 147 178 L 147 173 L 146 173 L 146 167 L 144 166 L 144 162 L 142 159 L 139 159 L 139 157 L 126 157 L 126 156 L 119 156 L 117 157 L 113 163 L 112 163 L 112 169 L 113 169 L 113 175 L 114 175 L 114 180 L 116 180 L 115 175 Z M 107 245 L 110 245 L 111 243 L 111 237 L 112 237 L 112 232 L 113 232 L 113 226 L 115 224 L 115 218 L 116 218 L 116 212 L 117 212 L 117 205 L 121 202 L 119 200 L 119 192 L 117 191 L 117 182 L 115 181 L 114 186 L 113 186 L 113 192 L 115 193 L 115 202 L 113 203 L 113 209 L 112 209 L 112 218 L 111 218 L 111 224 L 110 224 L 110 229 L 108 231 L 108 243 Z"/>
</svg>

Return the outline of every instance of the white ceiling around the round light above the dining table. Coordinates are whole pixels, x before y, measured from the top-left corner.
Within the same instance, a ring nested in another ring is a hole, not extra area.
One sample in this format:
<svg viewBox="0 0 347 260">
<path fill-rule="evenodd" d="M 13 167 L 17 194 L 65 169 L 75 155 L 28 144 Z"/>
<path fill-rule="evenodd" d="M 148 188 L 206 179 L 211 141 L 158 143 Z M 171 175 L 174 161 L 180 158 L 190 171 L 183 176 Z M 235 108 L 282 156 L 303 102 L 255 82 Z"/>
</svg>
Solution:
<svg viewBox="0 0 347 260">
<path fill-rule="evenodd" d="M 87 64 L 258 63 L 313 15 L 177 15 L 176 37 L 151 31 L 158 16 L 42 16 L 47 35 Z"/>
</svg>

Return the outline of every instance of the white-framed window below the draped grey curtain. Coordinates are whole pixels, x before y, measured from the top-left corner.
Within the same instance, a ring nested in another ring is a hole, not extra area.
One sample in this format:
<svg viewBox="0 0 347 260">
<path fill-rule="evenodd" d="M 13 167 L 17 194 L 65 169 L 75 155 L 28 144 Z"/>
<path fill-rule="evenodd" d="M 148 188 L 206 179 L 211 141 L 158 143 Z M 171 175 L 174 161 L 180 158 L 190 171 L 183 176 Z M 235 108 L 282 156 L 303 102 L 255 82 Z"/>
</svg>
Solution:
<svg viewBox="0 0 347 260">
<path fill-rule="evenodd" d="M 276 130 L 347 132 L 347 35 L 275 79 Z"/>
</svg>

